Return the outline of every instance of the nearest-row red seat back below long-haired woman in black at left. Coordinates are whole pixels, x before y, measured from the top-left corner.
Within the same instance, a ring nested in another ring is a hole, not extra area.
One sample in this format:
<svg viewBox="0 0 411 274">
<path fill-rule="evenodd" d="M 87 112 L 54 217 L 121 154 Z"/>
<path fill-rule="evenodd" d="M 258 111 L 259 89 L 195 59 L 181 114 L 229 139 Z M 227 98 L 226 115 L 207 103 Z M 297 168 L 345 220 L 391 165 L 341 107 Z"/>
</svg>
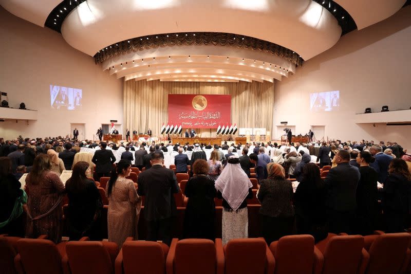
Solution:
<svg viewBox="0 0 411 274">
<path fill-rule="evenodd" d="M 116 245 L 115 243 L 110 244 Z M 114 262 L 112 261 L 108 250 L 103 246 L 102 242 L 68 242 L 66 245 L 66 252 L 68 257 L 68 264 L 72 273 L 114 273 Z"/>
</svg>

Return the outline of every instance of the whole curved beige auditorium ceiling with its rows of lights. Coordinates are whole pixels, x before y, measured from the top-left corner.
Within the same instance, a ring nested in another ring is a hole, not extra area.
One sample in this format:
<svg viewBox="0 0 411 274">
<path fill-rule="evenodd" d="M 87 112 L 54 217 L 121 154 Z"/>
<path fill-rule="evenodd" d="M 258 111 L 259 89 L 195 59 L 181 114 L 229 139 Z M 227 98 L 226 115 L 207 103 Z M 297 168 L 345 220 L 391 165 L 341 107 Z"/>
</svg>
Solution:
<svg viewBox="0 0 411 274">
<path fill-rule="evenodd" d="M 271 81 L 406 0 L 0 0 L 125 80 Z"/>
</svg>

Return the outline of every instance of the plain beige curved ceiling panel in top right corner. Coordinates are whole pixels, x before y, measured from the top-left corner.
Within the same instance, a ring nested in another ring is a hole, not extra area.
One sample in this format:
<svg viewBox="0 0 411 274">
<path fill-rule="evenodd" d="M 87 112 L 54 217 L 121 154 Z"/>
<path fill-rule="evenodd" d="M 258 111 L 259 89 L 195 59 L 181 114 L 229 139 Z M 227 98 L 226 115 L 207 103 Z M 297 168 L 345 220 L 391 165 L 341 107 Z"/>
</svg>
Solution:
<svg viewBox="0 0 411 274">
<path fill-rule="evenodd" d="M 387 19 L 401 9 L 406 0 L 334 0 L 354 19 L 357 28 L 363 29 Z"/>
</svg>

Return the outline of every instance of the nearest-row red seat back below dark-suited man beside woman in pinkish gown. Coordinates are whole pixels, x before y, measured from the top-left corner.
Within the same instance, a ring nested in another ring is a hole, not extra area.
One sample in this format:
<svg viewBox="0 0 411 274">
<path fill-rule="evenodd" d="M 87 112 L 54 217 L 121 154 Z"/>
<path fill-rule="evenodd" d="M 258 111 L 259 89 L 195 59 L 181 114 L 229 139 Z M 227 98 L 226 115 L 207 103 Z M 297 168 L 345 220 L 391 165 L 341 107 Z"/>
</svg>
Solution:
<svg viewBox="0 0 411 274">
<path fill-rule="evenodd" d="M 125 242 L 122 248 L 124 273 L 163 274 L 167 249 L 164 252 L 164 247 L 157 242 Z"/>
</svg>

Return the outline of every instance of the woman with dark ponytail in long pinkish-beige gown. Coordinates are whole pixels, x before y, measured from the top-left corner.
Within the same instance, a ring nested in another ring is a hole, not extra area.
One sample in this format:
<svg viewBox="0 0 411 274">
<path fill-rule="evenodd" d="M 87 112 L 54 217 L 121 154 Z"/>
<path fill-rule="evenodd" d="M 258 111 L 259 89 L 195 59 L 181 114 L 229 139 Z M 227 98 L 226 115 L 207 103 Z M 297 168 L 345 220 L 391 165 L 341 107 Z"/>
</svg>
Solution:
<svg viewBox="0 0 411 274">
<path fill-rule="evenodd" d="M 111 172 L 106 186 L 108 197 L 108 241 L 119 248 L 127 237 L 137 240 L 137 224 L 141 207 L 141 197 L 137 194 L 132 180 L 127 179 L 132 168 L 128 161 L 120 160 Z"/>
</svg>

